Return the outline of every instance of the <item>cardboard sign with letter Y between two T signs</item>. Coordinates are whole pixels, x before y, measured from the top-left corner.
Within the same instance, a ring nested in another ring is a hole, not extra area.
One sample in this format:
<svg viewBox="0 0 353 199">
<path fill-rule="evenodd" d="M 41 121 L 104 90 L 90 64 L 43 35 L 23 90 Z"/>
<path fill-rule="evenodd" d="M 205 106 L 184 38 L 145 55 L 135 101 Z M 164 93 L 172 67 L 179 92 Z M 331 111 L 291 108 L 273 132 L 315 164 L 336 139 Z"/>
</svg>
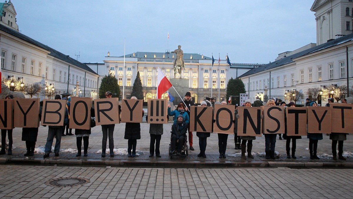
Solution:
<svg viewBox="0 0 353 199">
<path fill-rule="evenodd" d="M 308 106 L 308 133 L 331 133 L 331 108 Z"/>
</svg>

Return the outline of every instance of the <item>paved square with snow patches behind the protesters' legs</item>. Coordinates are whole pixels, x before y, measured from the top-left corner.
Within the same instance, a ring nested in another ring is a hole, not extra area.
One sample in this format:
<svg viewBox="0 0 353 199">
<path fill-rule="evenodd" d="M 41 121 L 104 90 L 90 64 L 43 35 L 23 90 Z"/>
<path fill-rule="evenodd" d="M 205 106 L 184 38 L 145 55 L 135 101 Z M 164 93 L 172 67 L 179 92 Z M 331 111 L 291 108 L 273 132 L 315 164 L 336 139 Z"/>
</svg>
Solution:
<svg viewBox="0 0 353 199">
<path fill-rule="evenodd" d="M 50 158 L 59 159 L 59 158 L 68 158 L 68 159 L 130 159 L 130 160 L 169 160 L 168 157 L 168 147 L 170 143 L 170 129 L 172 123 L 164 124 L 164 133 L 161 139 L 160 151 L 161 158 L 149 157 L 149 146 L 150 146 L 150 134 L 149 134 L 149 124 L 141 123 L 141 139 L 137 140 L 136 150 L 140 151 L 140 156 L 136 156 L 134 158 L 128 158 L 127 154 L 124 155 L 115 155 L 115 157 L 111 158 L 109 156 L 102 158 L 100 153 L 97 153 L 98 150 L 102 148 L 102 128 L 101 126 L 96 126 L 92 128 L 92 133 L 89 137 L 89 148 L 88 148 L 88 157 L 76 157 L 76 152 L 60 152 L 59 157 L 54 157 L 54 154 L 50 154 Z M 72 133 L 74 133 L 74 129 Z M 114 148 L 121 149 L 127 148 L 127 140 L 124 139 L 124 131 L 125 131 L 125 123 L 115 124 L 114 129 Z M 41 126 L 38 132 L 38 138 L 36 142 L 36 148 L 40 146 L 44 146 L 46 144 L 46 139 L 48 135 L 48 127 Z M 13 129 L 13 146 L 16 147 L 12 150 L 13 155 L 8 156 L 7 154 L 0 155 L 1 158 L 23 158 L 23 154 L 26 152 L 25 150 L 25 142 L 21 140 L 22 136 L 22 128 L 14 128 Z M 331 152 L 331 140 L 329 136 L 323 135 L 323 140 L 319 140 L 318 142 L 318 156 L 322 157 L 320 160 L 310 160 L 309 154 L 309 139 L 306 136 L 302 136 L 302 139 L 297 140 L 297 151 L 296 156 L 297 159 L 287 159 L 286 158 L 286 140 L 279 140 L 279 137 L 276 138 L 276 151 L 280 153 L 280 157 L 277 158 L 276 161 L 311 161 L 311 162 L 322 162 L 322 161 L 332 161 L 332 152 Z M 6 138 L 7 140 L 7 138 Z M 8 141 L 8 140 L 7 140 Z M 188 143 L 190 144 L 190 143 Z M 55 138 L 53 146 L 55 145 Z M 292 146 L 292 145 L 291 145 Z M 211 136 L 207 139 L 207 148 L 206 154 L 207 158 L 199 158 L 197 154 L 199 151 L 198 137 L 196 136 L 196 132 L 193 133 L 193 147 L 195 151 L 189 151 L 189 156 L 187 156 L 184 160 L 190 161 L 200 161 L 200 160 L 209 160 L 209 161 L 244 161 L 240 159 L 240 150 L 234 149 L 234 135 L 228 136 L 228 145 L 226 155 L 227 158 L 218 158 L 219 149 L 218 149 L 218 136 L 216 133 L 211 133 Z M 76 149 L 76 136 L 63 136 L 61 139 L 61 149 Z M 83 148 L 83 146 L 82 146 Z M 108 148 L 108 146 L 107 146 Z M 338 150 L 338 149 L 337 149 Z M 264 155 L 265 151 L 265 138 L 256 137 L 256 140 L 253 140 L 253 148 L 252 152 L 254 154 L 255 159 L 253 161 L 262 161 L 266 160 Z M 344 142 L 343 151 L 351 151 L 353 152 L 353 139 L 352 134 L 347 135 L 347 140 Z M 238 154 L 237 154 L 238 153 Z M 325 154 L 325 155 L 324 155 Z M 347 161 L 344 162 L 353 162 L 352 156 L 348 156 Z M 31 158 L 43 158 L 43 154 L 35 153 Z M 180 159 L 175 158 L 175 159 Z M 249 159 L 248 159 L 249 160 Z M 272 160 L 270 160 L 272 161 Z M 337 160 L 337 162 L 342 162 L 341 160 Z"/>
</svg>

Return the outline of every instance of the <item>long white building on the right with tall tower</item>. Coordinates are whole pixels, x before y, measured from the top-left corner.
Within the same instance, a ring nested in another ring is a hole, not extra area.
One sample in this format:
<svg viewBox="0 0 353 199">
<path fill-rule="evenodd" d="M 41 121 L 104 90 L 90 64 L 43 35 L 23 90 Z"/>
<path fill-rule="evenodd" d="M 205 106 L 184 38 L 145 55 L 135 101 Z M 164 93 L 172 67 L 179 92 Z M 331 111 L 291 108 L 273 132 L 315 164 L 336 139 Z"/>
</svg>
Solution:
<svg viewBox="0 0 353 199">
<path fill-rule="evenodd" d="M 311 11 L 316 16 L 317 45 L 311 43 L 281 53 L 274 62 L 240 76 L 252 101 L 256 95 L 264 94 L 265 86 L 270 98 L 293 90 L 305 94 L 309 88 L 325 89 L 331 85 L 352 88 L 352 0 L 315 0 Z M 297 104 L 303 104 L 307 97 L 304 95 Z M 327 103 L 328 97 L 322 96 L 322 104 Z"/>
</svg>

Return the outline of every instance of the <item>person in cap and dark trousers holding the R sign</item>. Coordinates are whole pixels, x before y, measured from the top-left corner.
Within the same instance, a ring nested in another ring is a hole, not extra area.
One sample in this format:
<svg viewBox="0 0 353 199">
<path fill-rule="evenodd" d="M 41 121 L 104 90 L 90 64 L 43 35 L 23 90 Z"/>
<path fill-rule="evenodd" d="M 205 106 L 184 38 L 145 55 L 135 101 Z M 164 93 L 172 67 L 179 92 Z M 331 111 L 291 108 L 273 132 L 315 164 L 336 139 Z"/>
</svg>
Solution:
<svg viewBox="0 0 353 199">
<path fill-rule="evenodd" d="M 112 98 L 112 93 L 107 91 L 106 92 L 106 98 Z M 103 133 L 102 157 L 106 157 L 106 148 L 107 148 L 107 138 L 108 137 L 109 137 L 110 157 L 114 157 L 114 138 L 113 138 L 113 133 L 114 133 L 115 124 L 106 124 L 106 125 L 101 125 L 101 126 L 102 126 L 102 133 Z"/>
</svg>

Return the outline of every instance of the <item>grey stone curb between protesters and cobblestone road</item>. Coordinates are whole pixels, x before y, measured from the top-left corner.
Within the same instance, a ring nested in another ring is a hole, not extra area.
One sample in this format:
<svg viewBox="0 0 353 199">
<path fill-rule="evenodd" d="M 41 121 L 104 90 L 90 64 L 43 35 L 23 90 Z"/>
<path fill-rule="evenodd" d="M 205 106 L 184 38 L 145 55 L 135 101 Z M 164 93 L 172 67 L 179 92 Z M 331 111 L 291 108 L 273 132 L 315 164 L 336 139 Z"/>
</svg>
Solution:
<svg viewBox="0 0 353 199">
<path fill-rule="evenodd" d="M 305 161 L 190 161 L 190 160 L 110 160 L 110 159 L 67 159 L 67 158 L 0 158 L 1 164 L 71 165 L 71 166 L 116 166 L 152 168 L 353 168 L 353 162 L 305 162 Z"/>
</svg>

